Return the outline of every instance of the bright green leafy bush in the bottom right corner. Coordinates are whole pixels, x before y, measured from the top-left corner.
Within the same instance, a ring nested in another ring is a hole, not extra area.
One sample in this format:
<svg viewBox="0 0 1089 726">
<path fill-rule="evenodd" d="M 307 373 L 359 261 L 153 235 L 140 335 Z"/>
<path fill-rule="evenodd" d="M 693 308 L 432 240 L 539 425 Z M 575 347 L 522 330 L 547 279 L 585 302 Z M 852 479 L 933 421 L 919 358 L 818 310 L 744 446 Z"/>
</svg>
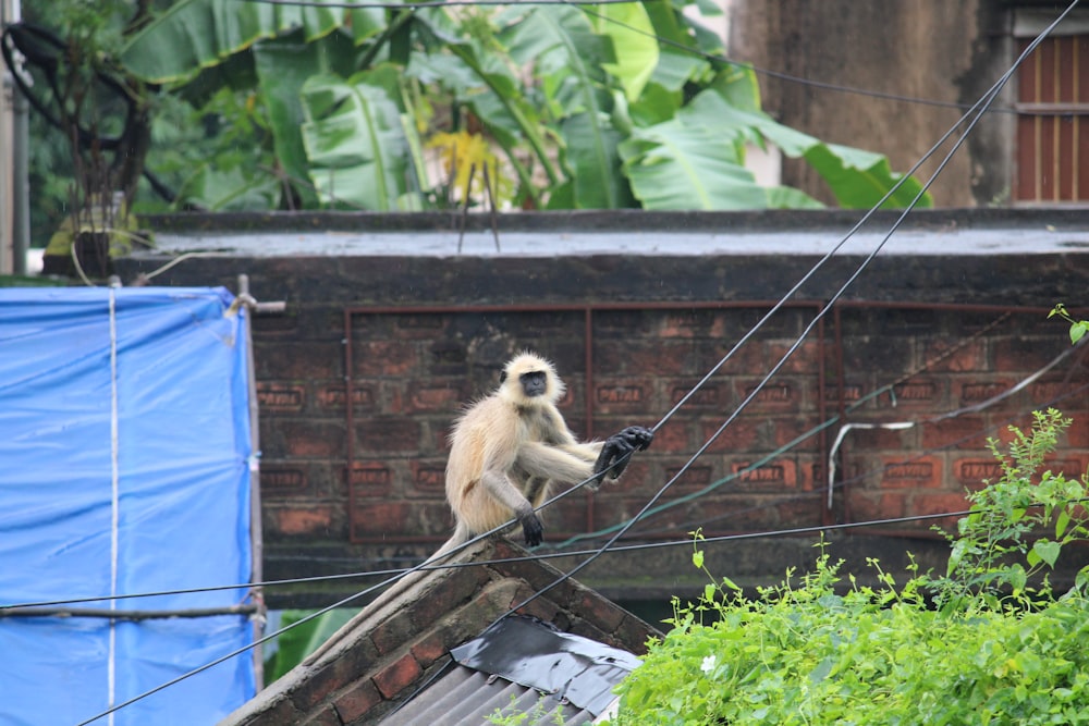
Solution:
<svg viewBox="0 0 1089 726">
<path fill-rule="evenodd" d="M 898 585 L 870 559 L 880 585 L 864 587 L 822 551 L 756 599 L 713 578 L 698 602 L 674 599 L 610 723 L 1089 724 L 1089 567 L 1062 596 L 1028 585 L 1089 539 L 1086 481 L 1037 473 L 1067 424 L 1049 410 L 1011 429 L 1006 453 L 992 442 L 1003 476 L 970 495 L 944 577 L 913 566 Z"/>
</svg>

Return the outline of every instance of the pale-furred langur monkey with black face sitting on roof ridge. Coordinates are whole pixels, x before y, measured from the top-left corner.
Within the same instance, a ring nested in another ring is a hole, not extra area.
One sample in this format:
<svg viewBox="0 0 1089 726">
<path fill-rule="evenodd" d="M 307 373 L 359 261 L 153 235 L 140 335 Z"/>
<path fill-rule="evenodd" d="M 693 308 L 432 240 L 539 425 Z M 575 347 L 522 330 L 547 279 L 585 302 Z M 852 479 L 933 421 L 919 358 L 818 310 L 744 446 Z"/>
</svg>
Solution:
<svg viewBox="0 0 1089 726">
<path fill-rule="evenodd" d="M 499 387 L 457 419 L 446 463 L 446 500 L 457 525 L 420 567 L 514 518 L 522 525 L 526 544 L 540 544 L 544 529 L 534 508 L 548 497 L 553 482 L 575 484 L 598 477 L 589 484 L 597 489 L 602 477 L 620 477 L 628 455 L 647 448 L 654 438 L 650 429 L 631 426 L 603 442 L 579 443 L 556 408 L 563 394 L 563 381 L 552 364 L 522 353 L 503 368 Z M 425 575 L 415 571 L 402 577 L 342 631 L 369 618 Z M 333 640 L 306 662 L 317 661 Z"/>
</svg>

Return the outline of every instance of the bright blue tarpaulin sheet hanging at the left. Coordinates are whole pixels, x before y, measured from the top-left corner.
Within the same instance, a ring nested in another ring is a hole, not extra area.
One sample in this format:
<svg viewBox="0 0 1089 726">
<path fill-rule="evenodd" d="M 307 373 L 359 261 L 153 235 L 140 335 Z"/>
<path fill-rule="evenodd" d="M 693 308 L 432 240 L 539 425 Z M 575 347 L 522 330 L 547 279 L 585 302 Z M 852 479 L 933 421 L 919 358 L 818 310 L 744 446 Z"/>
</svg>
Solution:
<svg viewBox="0 0 1089 726">
<path fill-rule="evenodd" d="M 249 343 L 233 300 L 222 288 L 0 290 L 0 606 L 249 581 Z M 0 617 L 0 724 L 73 726 L 252 642 L 235 614 Z M 95 723 L 215 724 L 253 697 L 254 677 L 246 651 Z"/>
</svg>

